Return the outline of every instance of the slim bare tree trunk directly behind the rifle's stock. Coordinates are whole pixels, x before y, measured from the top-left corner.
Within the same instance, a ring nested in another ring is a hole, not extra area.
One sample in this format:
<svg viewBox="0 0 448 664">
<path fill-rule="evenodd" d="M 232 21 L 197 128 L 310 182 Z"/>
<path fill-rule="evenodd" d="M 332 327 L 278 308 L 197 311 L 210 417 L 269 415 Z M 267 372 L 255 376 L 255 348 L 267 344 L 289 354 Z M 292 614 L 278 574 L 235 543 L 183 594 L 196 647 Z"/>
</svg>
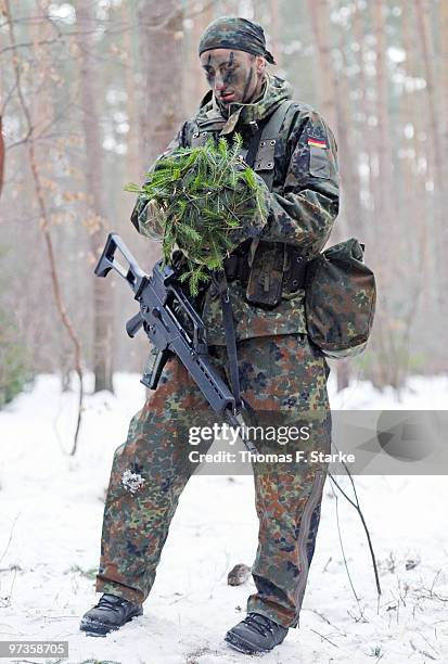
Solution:
<svg viewBox="0 0 448 664">
<path fill-rule="evenodd" d="M 78 23 L 77 42 L 80 51 L 80 104 L 86 144 L 86 190 L 90 197 L 88 228 L 90 246 L 98 258 L 104 244 L 105 206 L 102 181 L 102 137 L 98 108 L 97 67 L 93 56 L 94 41 L 92 25 L 94 22 L 91 2 L 78 0 L 76 15 Z M 113 391 L 113 340 L 112 340 L 111 288 L 105 279 L 93 281 L 93 370 L 94 391 Z"/>
</svg>

